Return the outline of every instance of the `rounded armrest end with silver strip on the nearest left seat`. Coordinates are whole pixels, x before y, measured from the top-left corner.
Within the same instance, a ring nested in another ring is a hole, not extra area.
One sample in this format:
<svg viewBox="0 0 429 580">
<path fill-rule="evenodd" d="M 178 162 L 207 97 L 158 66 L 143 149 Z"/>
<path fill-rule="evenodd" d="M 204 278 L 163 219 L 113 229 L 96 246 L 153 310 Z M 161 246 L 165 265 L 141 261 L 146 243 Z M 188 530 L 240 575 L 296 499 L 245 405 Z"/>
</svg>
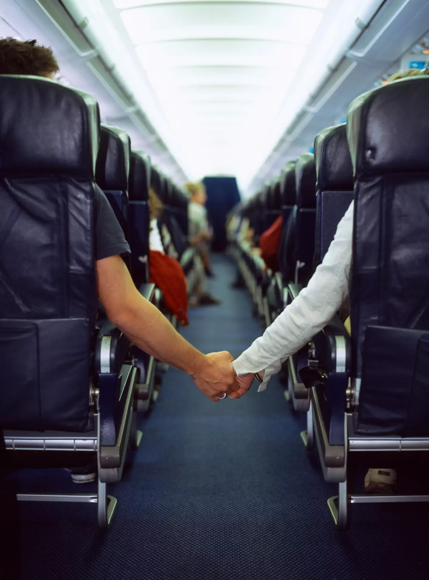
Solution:
<svg viewBox="0 0 429 580">
<path fill-rule="evenodd" d="M 95 371 L 97 374 L 116 374 L 122 367 L 130 341 L 108 318 L 103 322 L 96 339 Z"/>
</svg>

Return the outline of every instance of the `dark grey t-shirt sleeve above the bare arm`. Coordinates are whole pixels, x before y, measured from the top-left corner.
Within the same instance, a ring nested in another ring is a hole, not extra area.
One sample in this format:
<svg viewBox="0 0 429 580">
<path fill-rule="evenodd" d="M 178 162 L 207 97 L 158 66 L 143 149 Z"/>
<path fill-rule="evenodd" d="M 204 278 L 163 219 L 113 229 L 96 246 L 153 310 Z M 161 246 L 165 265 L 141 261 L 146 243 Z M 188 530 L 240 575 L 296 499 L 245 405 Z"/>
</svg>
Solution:
<svg viewBox="0 0 429 580">
<path fill-rule="evenodd" d="M 102 260 L 110 256 L 131 253 L 115 212 L 98 186 L 95 187 L 94 211 L 96 214 L 96 259 Z"/>
</svg>

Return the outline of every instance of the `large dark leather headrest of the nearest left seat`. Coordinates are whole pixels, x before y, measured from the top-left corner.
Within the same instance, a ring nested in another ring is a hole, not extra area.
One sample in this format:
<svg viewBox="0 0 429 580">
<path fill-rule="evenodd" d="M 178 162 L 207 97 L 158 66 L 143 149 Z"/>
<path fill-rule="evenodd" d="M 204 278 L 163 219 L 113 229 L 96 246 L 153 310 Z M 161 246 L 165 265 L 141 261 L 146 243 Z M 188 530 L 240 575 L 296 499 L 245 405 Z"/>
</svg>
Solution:
<svg viewBox="0 0 429 580">
<path fill-rule="evenodd" d="M 66 173 L 93 180 L 99 106 L 41 77 L 0 75 L 0 174 Z"/>
</svg>

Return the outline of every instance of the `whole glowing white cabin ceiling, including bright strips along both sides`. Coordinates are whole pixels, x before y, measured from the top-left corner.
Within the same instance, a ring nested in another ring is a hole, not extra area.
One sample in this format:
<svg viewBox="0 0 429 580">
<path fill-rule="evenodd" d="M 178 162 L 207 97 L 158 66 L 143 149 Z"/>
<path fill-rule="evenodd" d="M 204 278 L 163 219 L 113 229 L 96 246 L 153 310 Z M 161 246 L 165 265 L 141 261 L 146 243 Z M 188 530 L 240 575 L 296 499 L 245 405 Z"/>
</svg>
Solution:
<svg viewBox="0 0 429 580">
<path fill-rule="evenodd" d="M 137 100 L 183 171 L 191 179 L 236 175 L 242 189 L 339 45 L 356 37 L 357 17 L 378 3 L 64 1 L 81 11 L 116 70 L 133 79 L 134 95 L 140 81 Z M 307 83 L 295 90 L 302 67 Z"/>
</svg>

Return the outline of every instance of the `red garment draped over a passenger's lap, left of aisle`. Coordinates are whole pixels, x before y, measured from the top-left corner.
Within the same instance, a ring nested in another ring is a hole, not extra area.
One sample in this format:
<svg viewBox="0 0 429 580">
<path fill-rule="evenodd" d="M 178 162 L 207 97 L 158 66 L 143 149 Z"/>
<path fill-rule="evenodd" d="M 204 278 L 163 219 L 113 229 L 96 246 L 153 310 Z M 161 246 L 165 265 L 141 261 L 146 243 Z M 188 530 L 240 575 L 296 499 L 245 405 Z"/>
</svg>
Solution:
<svg viewBox="0 0 429 580">
<path fill-rule="evenodd" d="M 183 326 L 188 322 L 188 289 L 179 262 L 162 252 L 149 252 L 150 281 L 161 290 L 164 302 Z"/>
</svg>

